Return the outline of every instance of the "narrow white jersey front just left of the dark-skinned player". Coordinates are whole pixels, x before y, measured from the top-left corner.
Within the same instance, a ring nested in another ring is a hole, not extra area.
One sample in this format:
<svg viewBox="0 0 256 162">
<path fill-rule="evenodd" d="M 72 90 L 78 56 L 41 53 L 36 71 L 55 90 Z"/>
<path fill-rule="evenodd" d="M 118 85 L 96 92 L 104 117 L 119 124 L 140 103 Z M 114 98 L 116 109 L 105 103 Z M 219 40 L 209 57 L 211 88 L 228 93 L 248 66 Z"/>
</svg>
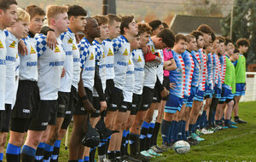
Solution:
<svg viewBox="0 0 256 162">
<path fill-rule="evenodd" d="M 79 80 L 80 80 L 80 53 L 79 47 L 76 42 L 76 38 L 73 39 L 73 82 L 72 85 L 78 90 L 79 89 Z"/>
</svg>

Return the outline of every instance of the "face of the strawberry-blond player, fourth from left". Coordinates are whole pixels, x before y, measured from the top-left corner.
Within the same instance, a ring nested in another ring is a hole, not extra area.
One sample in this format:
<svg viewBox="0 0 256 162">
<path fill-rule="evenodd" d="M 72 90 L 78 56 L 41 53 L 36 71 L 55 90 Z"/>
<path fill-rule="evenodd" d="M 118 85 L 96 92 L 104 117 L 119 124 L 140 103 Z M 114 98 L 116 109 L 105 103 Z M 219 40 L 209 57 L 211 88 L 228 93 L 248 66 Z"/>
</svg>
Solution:
<svg viewBox="0 0 256 162">
<path fill-rule="evenodd" d="M 67 32 L 69 20 L 67 13 L 61 13 L 56 16 L 55 26 L 60 32 Z"/>
</svg>

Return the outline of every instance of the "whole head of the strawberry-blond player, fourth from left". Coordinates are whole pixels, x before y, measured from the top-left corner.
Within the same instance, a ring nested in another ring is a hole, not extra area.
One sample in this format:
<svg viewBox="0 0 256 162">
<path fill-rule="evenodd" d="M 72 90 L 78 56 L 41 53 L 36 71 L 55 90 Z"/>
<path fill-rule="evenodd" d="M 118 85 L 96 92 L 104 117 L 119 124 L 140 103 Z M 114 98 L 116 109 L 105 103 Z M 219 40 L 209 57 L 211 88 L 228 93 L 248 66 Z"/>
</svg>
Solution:
<svg viewBox="0 0 256 162">
<path fill-rule="evenodd" d="M 67 32 L 69 20 L 67 17 L 67 7 L 59 5 L 50 5 L 46 9 L 48 26 L 56 31 Z"/>
</svg>

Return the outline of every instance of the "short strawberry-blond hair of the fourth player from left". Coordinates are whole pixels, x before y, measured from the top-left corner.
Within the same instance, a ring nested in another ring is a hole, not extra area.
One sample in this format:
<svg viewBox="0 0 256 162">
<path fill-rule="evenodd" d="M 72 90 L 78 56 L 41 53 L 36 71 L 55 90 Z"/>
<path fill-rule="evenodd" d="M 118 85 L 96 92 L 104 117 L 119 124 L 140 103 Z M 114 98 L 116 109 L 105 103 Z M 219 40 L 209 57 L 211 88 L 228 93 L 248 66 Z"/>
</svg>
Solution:
<svg viewBox="0 0 256 162">
<path fill-rule="evenodd" d="M 55 18 L 56 14 L 67 13 L 67 10 L 67 6 L 49 5 L 46 9 L 48 23 L 50 22 L 50 20 Z"/>
</svg>

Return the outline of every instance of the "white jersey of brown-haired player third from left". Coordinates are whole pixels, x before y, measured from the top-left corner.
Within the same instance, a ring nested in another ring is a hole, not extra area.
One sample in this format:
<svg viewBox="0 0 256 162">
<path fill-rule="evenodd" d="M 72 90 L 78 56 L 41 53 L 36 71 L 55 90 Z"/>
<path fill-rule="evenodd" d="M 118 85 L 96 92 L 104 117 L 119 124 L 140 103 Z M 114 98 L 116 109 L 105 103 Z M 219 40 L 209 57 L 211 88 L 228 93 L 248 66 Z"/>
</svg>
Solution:
<svg viewBox="0 0 256 162">
<path fill-rule="evenodd" d="M 36 39 L 30 33 L 23 39 L 26 44 L 27 55 L 20 55 L 20 80 L 38 81 L 38 52 Z"/>
</svg>

